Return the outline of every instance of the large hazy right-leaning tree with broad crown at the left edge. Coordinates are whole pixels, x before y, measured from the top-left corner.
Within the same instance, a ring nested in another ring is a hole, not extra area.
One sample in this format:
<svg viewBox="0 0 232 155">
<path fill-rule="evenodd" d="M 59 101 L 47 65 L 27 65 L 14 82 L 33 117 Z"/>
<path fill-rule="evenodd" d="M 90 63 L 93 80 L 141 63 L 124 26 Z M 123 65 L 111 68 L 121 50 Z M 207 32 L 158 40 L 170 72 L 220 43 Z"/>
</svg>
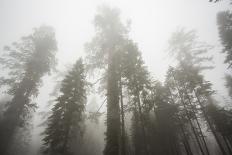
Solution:
<svg viewBox="0 0 232 155">
<path fill-rule="evenodd" d="M 6 53 L 0 62 L 8 74 L 1 78 L 1 84 L 8 86 L 7 93 L 12 99 L 6 104 L 0 125 L 0 139 L 4 141 L 0 144 L 0 153 L 3 155 L 15 130 L 24 126 L 30 111 L 36 107 L 31 99 L 38 94 L 41 77 L 54 68 L 57 50 L 54 30 L 41 26 L 4 50 Z"/>
</svg>

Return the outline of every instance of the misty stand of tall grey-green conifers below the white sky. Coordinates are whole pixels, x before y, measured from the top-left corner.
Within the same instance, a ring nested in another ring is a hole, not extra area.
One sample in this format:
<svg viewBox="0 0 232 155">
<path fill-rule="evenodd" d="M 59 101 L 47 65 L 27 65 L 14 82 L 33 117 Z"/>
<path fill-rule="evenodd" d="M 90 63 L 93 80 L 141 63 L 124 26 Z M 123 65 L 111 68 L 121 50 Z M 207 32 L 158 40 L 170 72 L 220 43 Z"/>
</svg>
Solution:
<svg viewBox="0 0 232 155">
<path fill-rule="evenodd" d="M 159 80 L 130 35 L 133 21 L 124 22 L 117 7 L 96 9 L 84 54 L 63 70 L 57 69 L 59 40 L 52 26 L 5 45 L 0 155 L 232 155 L 232 10 L 213 18 L 222 47 L 217 52 L 227 66 L 219 81 L 225 100 L 205 76 L 218 64 L 214 47 L 197 30 L 180 27 L 170 34 L 163 52 L 174 63 Z M 52 92 L 40 89 L 50 85 L 44 82 L 49 76 Z M 37 113 L 42 92 L 49 99 Z M 32 153 L 35 117 L 40 143 Z"/>
</svg>

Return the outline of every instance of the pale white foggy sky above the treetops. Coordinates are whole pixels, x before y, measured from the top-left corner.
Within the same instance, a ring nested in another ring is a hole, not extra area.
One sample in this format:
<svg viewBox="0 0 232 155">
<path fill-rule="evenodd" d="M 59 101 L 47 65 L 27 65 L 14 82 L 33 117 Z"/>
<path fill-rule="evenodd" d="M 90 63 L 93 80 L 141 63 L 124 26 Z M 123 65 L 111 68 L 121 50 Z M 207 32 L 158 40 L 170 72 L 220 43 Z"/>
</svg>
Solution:
<svg viewBox="0 0 232 155">
<path fill-rule="evenodd" d="M 51 25 L 56 30 L 59 68 L 63 68 L 83 56 L 84 43 L 94 35 L 96 8 L 102 4 L 118 7 L 124 22 L 131 20 L 130 37 L 138 43 L 154 78 L 161 81 L 173 63 L 165 53 L 171 33 L 180 27 L 195 29 L 201 41 L 215 47 L 211 54 L 217 67 L 207 71 L 207 79 L 219 96 L 226 94 L 226 66 L 216 25 L 217 12 L 231 7 L 226 0 L 216 4 L 208 0 L 0 0 L 0 49 L 34 27 Z"/>
</svg>

